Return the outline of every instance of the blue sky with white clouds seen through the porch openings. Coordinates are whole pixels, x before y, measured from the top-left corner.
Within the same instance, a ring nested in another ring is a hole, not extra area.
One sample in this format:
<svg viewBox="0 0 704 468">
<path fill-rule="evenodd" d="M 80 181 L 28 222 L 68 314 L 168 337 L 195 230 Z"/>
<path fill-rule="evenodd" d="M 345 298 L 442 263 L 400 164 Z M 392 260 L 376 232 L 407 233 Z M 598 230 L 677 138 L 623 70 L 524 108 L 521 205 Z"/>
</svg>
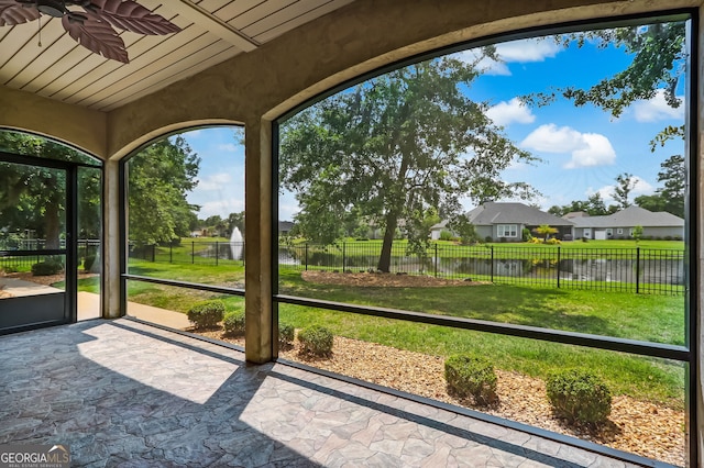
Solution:
<svg viewBox="0 0 704 468">
<path fill-rule="evenodd" d="M 600 192 L 606 205 L 619 174 L 637 180 L 630 200 L 651 194 L 660 186 L 660 164 L 684 154 L 681 141 L 650 152 L 649 142 L 667 125 L 681 125 L 684 105 L 670 108 L 662 92 L 637 102 L 618 119 L 592 105 L 575 108 L 559 100 L 547 107 L 528 108 L 518 97 L 554 87 L 588 87 L 626 68 L 630 57 L 615 47 L 597 49 L 559 46 L 550 40 L 522 40 L 497 45 L 499 62 L 482 60 L 483 75 L 468 89 L 468 96 L 490 103 L 488 115 L 504 126 L 522 149 L 540 157 L 534 166 L 518 164 L 503 175 L 507 181 L 530 183 L 542 193 L 532 200 L 547 210 L 572 200 L 586 200 Z M 475 62 L 472 52 L 459 54 Z M 680 85 L 678 96 L 681 97 Z M 244 148 L 232 129 L 207 129 L 186 133 L 185 138 L 201 157 L 198 187 L 189 201 L 201 205 L 199 218 L 244 210 Z M 470 200 L 465 208 L 472 209 Z M 295 198 L 279 198 L 279 219 L 290 220 L 298 211 Z"/>
</svg>

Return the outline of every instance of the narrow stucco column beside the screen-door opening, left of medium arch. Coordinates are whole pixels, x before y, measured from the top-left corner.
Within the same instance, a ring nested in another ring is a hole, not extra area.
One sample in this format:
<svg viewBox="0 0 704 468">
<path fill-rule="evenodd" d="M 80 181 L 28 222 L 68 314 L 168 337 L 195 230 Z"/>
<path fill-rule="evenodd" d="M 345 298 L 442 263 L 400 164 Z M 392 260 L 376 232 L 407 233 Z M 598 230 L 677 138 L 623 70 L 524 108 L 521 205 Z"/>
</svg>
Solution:
<svg viewBox="0 0 704 468">
<path fill-rule="evenodd" d="M 102 316 L 117 319 L 120 311 L 120 165 L 105 163 L 102 185 Z"/>
</svg>

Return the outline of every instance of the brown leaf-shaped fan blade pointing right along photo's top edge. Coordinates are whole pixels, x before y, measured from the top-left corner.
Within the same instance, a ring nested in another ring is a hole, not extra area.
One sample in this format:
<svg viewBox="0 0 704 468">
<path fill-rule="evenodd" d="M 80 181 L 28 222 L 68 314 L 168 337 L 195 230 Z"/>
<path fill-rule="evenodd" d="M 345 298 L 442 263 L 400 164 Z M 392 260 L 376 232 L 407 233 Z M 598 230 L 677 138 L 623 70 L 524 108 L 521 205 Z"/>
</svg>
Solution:
<svg viewBox="0 0 704 468">
<path fill-rule="evenodd" d="M 133 33 L 163 35 L 180 31 L 176 24 L 133 0 L 91 0 L 85 8 L 113 26 Z"/>
</svg>

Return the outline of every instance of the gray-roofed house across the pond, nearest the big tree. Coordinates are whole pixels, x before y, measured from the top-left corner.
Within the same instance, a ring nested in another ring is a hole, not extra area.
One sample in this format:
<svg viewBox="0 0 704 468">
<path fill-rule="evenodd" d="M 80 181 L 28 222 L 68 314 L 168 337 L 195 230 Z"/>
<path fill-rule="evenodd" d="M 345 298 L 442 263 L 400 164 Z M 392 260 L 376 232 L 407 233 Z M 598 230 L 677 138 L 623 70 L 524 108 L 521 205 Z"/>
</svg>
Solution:
<svg viewBox="0 0 704 468">
<path fill-rule="evenodd" d="M 571 238 L 574 224 L 563 218 L 546 213 L 534 207 L 514 202 L 487 202 L 466 213 L 474 224 L 480 238 L 492 238 L 492 242 L 521 242 L 522 230 L 530 230 L 547 224 L 558 230 L 557 238 Z M 442 231 L 448 231 L 449 221 L 442 221 L 430 227 L 430 238 L 439 239 Z"/>
</svg>

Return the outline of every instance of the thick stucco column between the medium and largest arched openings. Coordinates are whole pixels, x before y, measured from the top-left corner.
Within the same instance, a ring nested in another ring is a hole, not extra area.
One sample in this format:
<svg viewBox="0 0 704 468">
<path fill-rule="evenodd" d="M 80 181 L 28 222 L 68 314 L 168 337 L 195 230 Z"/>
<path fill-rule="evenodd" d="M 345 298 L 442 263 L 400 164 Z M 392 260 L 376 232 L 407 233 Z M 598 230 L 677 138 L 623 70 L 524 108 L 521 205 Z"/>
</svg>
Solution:
<svg viewBox="0 0 704 468">
<path fill-rule="evenodd" d="M 244 137 L 245 346 L 250 363 L 274 357 L 272 346 L 272 123 L 246 122 Z"/>
</svg>

